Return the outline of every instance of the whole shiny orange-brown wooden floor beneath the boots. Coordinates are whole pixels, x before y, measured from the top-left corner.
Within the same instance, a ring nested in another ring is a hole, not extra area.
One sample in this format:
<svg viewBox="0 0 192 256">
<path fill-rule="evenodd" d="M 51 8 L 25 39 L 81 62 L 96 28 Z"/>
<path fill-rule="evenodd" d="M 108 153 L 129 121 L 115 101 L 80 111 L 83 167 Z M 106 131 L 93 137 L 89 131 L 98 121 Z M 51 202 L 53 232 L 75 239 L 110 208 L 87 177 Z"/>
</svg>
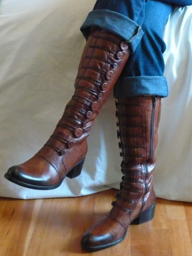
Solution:
<svg viewBox="0 0 192 256">
<path fill-rule="evenodd" d="M 111 208 L 117 190 L 78 198 L 0 198 L 0 256 L 191 256 L 191 203 L 157 199 L 152 221 L 129 227 L 111 248 L 86 253 L 84 231 Z"/>
</svg>

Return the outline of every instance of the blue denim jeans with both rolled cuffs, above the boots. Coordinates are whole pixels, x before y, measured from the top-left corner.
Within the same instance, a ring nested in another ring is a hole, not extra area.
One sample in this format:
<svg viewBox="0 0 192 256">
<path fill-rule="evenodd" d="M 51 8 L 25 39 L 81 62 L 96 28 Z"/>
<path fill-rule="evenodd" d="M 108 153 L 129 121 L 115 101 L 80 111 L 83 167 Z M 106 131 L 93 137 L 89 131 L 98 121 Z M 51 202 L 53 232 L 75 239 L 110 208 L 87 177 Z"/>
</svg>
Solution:
<svg viewBox="0 0 192 256">
<path fill-rule="evenodd" d="M 172 0 L 172 2 L 182 0 Z M 188 0 L 187 0 L 188 1 Z M 191 1 L 191 0 L 189 0 Z M 97 0 L 80 30 L 87 38 L 91 26 L 121 36 L 129 43 L 131 56 L 115 87 L 116 98 L 125 96 L 168 96 L 163 76 L 163 29 L 172 11 L 171 1 Z"/>
</svg>

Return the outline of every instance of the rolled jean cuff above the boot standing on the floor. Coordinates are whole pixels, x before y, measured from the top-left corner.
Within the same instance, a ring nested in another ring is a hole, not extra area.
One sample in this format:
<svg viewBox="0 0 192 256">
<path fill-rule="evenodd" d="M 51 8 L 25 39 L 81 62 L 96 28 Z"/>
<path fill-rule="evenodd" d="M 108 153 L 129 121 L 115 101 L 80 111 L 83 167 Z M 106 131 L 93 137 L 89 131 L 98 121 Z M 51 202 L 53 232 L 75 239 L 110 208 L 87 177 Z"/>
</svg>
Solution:
<svg viewBox="0 0 192 256">
<path fill-rule="evenodd" d="M 122 77 L 115 84 L 115 98 L 141 95 L 167 97 L 167 79 L 164 76 Z"/>
</svg>

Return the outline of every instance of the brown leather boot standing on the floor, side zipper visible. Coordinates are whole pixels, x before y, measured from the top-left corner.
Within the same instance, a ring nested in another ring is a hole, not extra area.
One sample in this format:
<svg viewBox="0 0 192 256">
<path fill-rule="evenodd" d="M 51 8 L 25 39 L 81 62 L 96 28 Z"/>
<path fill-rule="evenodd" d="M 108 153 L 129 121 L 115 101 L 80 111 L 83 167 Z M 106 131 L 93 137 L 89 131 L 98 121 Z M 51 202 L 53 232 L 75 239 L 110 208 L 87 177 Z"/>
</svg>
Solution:
<svg viewBox="0 0 192 256">
<path fill-rule="evenodd" d="M 117 137 L 121 142 L 124 176 L 112 210 L 82 237 L 89 251 L 101 250 L 121 242 L 128 226 L 149 221 L 155 212 L 152 171 L 155 167 L 160 97 L 139 96 L 119 99 Z"/>
</svg>

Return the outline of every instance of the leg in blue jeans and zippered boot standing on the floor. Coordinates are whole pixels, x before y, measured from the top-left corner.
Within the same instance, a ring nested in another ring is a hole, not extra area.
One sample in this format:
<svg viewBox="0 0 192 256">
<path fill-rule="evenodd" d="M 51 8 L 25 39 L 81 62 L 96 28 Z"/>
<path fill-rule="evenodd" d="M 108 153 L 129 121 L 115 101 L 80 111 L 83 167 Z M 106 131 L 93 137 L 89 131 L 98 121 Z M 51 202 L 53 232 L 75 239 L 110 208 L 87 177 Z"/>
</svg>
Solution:
<svg viewBox="0 0 192 256">
<path fill-rule="evenodd" d="M 152 171 L 155 167 L 157 129 L 161 97 L 167 96 L 163 77 L 165 50 L 163 28 L 172 6 L 147 1 L 142 25 L 144 35 L 115 86 L 120 138 L 121 170 L 124 174 L 120 191 L 111 211 L 82 237 L 86 250 L 100 250 L 117 244 L 125 237 L 131 223 L 140 224 L 154 216 L 155 192 Z"/>
</svg>

